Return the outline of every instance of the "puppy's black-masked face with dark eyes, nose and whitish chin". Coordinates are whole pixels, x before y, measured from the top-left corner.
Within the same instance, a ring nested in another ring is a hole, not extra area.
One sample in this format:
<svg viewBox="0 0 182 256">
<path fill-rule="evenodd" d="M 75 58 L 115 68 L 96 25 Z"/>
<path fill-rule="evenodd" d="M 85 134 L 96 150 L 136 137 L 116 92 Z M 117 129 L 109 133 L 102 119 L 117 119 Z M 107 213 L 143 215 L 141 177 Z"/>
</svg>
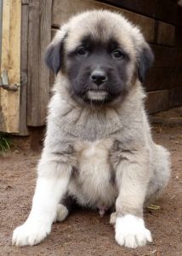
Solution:
<svg viewBox="0 0 182 256">
<path fill-rule="evenodd" d="M 83 35 L 67 54 L 71 89 L 85 102 L 111 102 L 125 90 L 129 62 L 130 56 L 117 39 L 103 42 L 92 34 Z"/>
</svg>

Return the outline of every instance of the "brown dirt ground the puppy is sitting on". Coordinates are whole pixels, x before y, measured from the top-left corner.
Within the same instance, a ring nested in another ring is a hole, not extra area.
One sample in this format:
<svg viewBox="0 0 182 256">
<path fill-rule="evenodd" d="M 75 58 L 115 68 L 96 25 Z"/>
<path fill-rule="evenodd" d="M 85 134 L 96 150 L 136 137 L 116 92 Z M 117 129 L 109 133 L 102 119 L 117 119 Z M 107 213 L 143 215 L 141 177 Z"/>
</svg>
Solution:
<svg viewBox="0 0 182 256">
<path fill-rule="evenodd" d="M 63 223 L 53 224 L 52 232 L 34 247 L 13 247 L 14 228 L 22 224 L 30 212 L 37 160 L 40 153 L 16 149 L 0 156 L 0 255 L 182 255 L 182 127 L 156 126 L 157 143 L 172 154 L 173 172 L 168 189 L 155 204 L 159 210 L 145 211 L 146 226 L 153 242 L 138 249 L 119 247 L 109 215 L 78 210 Z"/>
</svg>

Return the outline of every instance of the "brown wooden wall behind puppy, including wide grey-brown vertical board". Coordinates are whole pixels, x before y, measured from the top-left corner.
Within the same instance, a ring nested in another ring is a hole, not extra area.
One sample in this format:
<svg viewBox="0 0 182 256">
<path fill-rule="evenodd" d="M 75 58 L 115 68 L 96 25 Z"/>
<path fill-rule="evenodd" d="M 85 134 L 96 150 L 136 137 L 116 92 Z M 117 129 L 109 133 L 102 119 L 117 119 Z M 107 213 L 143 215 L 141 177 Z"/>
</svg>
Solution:
<svg viewBox="0 0 182 256">
<path fill-rule="evenodd" d="M 156 60 L 147 74 L 146 106 L 150 113 L 182 104 L 181 18 L 176 19 L 177 4 L 172 0 L 22 0 L 28 4 L 27 59 L 22 61 L 22 81 L 27 75 L 27 125 L 45 124 L 50 87 L 54 83 L 43 61 L 43 53 L 60 27 L 72 15 L 87 9 L 121 12 L 137 24 L 151 44 Z M 180 15 L 179 15 L 180 16 Z M 25 18 L 26 19 L 26 18 Z M 51 36 L 52 35 L 52 36 Z M 24 44 L 25 43 L 24 39 Z M 27 68 L 27 70 L 26 70 Z M 26 95 L 26 91 L 24 92 Z"/>
</svg>

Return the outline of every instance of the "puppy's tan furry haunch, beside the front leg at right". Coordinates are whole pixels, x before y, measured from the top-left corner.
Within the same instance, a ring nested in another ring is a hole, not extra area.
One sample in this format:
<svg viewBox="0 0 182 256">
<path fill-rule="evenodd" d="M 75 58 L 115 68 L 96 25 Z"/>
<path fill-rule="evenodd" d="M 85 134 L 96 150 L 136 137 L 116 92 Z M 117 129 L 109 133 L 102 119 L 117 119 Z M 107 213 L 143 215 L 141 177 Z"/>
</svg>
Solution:
<svg viewBox="0 0 182 256">
<path fill-rule="evenodd" d="M 154 147 L 151 158 L 153 175 L 148 185 L 145 196 L 145 207 L 162 195 L 163 189 L 167 186 L 171 172 L 170 154 L 166 148 L 160 145 Z"/>
</svg>

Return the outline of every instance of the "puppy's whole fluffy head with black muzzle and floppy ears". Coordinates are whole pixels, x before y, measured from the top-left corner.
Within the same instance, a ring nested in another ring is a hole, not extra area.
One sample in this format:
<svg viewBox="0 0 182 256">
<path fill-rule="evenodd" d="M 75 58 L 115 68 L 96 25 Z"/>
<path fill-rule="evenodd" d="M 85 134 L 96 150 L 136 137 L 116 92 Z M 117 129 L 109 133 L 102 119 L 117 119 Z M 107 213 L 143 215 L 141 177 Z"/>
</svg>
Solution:
<svg viewBox="0 0 182 256">
<path fill-rule="evenodd" d="M 94 104 L 122 98 L 136 79 L 143 82 L 152 61 L 139 29 L 102 10 L 73 17 L 46 52 L 48 67 L 68 79 L 71 96 Z"/>
</svg>

